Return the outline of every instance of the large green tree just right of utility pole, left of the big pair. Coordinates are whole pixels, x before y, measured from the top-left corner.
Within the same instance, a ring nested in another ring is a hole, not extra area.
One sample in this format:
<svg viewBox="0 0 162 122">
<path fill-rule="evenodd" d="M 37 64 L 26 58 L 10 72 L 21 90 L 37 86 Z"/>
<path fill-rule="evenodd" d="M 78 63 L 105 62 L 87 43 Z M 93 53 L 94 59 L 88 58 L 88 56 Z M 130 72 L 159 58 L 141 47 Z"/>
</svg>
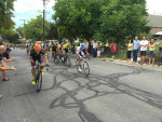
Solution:
<svg viewBox="0 0 162 122">
<path fill-rule="evenodd" d="M 53 19 L 60 38 L 92 38 L 99 27 L 102 0 L 57 0 Z"/>
</svg>

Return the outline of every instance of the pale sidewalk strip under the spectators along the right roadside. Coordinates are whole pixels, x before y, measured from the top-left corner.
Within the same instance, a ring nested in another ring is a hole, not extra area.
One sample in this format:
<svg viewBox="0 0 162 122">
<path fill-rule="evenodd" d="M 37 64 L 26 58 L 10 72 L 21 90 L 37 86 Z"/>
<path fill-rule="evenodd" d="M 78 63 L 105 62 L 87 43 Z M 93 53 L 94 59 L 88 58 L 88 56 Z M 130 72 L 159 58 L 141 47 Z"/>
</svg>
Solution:
<svg viewBox="0 0 162 122">
<path fill-rule="evenodd" d="M 112 60 L 111 62 L 111 58 L 108 58 L 108 57 L 105 57 L 105 58 L 98 58 L 99 60 L 104 60 L 104 62 L 110 62 L 110 63 L 116 63 L 116 64 L 120 64 L 120 65 L 126 65 L 126 66 L 135 66 L 135 67 L 141 67 L 141 68 L 146 68 L 146 69 L 156 69 L 156 70 L 160 70 L 160 71 L 162 71 L 162 66 L 158 66 L 158 65 L 154 65 L 154 66 L 152 66 L 152 65 L 147 65 L 147 64 L 143 64 L 143 65 L 140 65 L 140 64 L 138 64 L 138 63 L 132 63 L 132 60 L 131 60 L 131 63 L 127 63 L 126 60 L 121 60 L 121 59 L 114 59 L 114 60 Z M 137 59 L 137 60 L 139 60 L 139 58 Z"/>
</svg>

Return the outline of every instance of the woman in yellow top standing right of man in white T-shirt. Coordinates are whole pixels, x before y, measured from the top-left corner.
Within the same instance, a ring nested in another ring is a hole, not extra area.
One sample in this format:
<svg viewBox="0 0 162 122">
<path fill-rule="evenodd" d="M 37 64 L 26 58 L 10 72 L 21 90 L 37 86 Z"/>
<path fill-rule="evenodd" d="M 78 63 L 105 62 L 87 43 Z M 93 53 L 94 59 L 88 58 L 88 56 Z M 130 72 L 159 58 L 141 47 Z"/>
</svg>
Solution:
<svg viewBox="0 0 162 122">
<path fill-rule="evenodd" d="M 152 66 L 154 66 L 154 56 L 156 56 L 154 39 L 151 39 L 150 44 L 148 44 L 148 48 L 149 48 L 149 65 L 150 65 L 151 58 L 152 58 Z"/>
</svg>

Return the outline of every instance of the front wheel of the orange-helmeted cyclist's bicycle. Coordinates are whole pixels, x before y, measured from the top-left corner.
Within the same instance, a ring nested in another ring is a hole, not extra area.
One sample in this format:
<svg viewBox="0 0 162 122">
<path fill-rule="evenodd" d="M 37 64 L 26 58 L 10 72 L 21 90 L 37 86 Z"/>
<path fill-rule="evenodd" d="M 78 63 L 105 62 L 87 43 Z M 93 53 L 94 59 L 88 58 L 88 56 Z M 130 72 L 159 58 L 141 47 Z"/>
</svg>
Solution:
<svg viewBox="0 0 162 122">
<path fill-rule="evenodd" d="M 36 78 L 36 91 L 40 92 L 42 86 L 42 72 L 38 70 Z"/>
</svg>

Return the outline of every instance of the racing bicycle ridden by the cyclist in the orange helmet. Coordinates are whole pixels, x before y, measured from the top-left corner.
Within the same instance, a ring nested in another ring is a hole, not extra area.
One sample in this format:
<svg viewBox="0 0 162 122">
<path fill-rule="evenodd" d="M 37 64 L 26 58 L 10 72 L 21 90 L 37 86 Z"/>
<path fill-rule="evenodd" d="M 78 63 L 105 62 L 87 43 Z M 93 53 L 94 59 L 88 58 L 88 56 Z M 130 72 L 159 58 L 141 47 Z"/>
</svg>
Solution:
<svg viewBox="0 0 162 122">
<path fill-rule="evenodd" d="M 46 67 L 49 70 L 49 67 Z M 36 80 L 36 91 L 40 92 L 42 86 L 42 70 L 40 69 L 40 63 L 35 66 L 35 80 Z"/>
</svg>

